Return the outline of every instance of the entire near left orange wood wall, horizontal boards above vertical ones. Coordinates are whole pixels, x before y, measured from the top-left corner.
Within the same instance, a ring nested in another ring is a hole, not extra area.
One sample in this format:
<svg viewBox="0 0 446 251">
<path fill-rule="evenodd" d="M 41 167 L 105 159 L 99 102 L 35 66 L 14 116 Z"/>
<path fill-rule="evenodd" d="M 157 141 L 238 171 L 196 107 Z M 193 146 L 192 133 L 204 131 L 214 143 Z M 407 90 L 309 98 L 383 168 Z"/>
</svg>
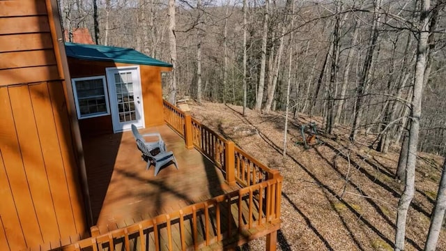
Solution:
<svg viewBox="0 0 446 251">
<path fill-rule="evenodd" d="M 45 0 L 0 1 L 0 250 L 86 231 L 50 22 Z"/>
</svg>

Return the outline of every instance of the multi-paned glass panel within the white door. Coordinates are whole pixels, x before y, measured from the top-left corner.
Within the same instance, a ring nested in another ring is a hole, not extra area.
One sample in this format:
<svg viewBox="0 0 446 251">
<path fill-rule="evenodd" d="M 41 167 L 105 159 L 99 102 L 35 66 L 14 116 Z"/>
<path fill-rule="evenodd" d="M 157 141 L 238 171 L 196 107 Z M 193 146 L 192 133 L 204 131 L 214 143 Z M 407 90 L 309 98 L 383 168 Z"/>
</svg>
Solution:
<svg viewBox="0 0 446 251">
<path fill-rule="evenodd" d="M 119 122 L 136 121 L 136 107 L 133 94 L 132 72 L 115 73 L 116 103 L 118 105 Z"/>
</svg>

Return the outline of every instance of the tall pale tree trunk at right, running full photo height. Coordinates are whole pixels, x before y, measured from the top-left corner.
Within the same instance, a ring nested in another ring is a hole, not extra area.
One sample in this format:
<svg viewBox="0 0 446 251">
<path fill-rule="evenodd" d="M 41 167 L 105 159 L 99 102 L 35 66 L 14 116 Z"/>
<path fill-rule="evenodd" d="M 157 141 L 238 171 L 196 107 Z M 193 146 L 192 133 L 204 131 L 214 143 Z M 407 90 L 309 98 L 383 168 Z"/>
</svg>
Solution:
<svg viewBox="0 0 446 251">
<path fill-rule="evenodd" d="M 421 1 L 420 31 L 418 32 L 417 63 L 415 66 L 415 81 L 411 104 L 411 121 L 409 130 L 408 158 L 406 167 L 406 185 L 399 199 L 397 214 L 397 233 L 395 235 L 395 250 L 404 250 L 406 236 L 406 219 L 410 202 L 415 193 L 415 164 L 417 161 L 418 136 L 420 132 L 420 117 L 422 114 L 422 94 L 424 70 L 426 68 L 427 40 L 429 37 L 429 8 L 430 1 Z"/>
</svg>

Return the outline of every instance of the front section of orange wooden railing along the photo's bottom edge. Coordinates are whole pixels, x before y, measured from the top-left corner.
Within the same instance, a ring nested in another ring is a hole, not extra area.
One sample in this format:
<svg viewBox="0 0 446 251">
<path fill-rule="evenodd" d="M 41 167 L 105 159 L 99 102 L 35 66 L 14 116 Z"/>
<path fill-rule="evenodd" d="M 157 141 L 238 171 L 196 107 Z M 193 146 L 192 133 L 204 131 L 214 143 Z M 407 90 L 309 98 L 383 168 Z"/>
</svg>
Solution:
<svg viewBox="0 0 446 251">
<path fill-rule="evenodd" d="M 154 240 L 150 242 L 155 250 L 160 250 L 161 245 L 168 245 L 169 250 L 174 250 L 174 242 L 180 243 L 181 250 L 185 250 L 190 247 L 185 243 L 187 238 L 185 226 L 187 225 L 192 225 L 192 229 L 190 229 L 192 231 L 192 236 L 190 236 L 193 240 L 192 247 L 199 249 L 222 241 L 223 236 L 234 238 L 252 227 L 279 223 L 280 206 L 277 205 L 280 201 L 277 201 L 279 200 L 277 195 L 281 192 L 281 183 L 282 177 L 257 183 L 226 195 L 186 206 L 180 211 L 142 220 L 128 227 L 86 238 L 59 249 L 92 248 L 93 250 L 102 250 L 108 247 L 109 250 L 114 250 L 116 245 L 121 245 L 121 249 L 130 250 L 132 245 L 135 247 L 139 245 L 141 250 L 146 250 L 150 248 L 146 240 L 153 237 Z M 235 215 L 232 210 L 234 206 L 237 209 Z M 225 215 L 222 214 L 225 213 L 222 211 L 222 207 L 226 207 Z M 245 207 L 247 210 L 244 209 Z M 245 219 L 248 219 L 247 222 Z M 224 221 L 222 222 L 222 220 Z M 187 224 L 186 221 L 190 223 Z M 177 224 L 178 227 L 174 227 Z M 202 228 L 200 228 L 201 225 L 203 225 Z M 233 231 L 233 227 L 236 227 L 236 231 Z M 162 231 L 167 232 L 167 236 L 164 238 L 161 238 Z M 179 235 L 173 234 L 174 231 L 178 231 Z M 199 232 L 203 233 L 202 236 L 199 236 Z M 174 240 L 174 238 L 177 239 Z M 160 243 L 161 241 L 165 243 Z M 120 247 L 118 246 L 118 248 Z"/>
</svg>

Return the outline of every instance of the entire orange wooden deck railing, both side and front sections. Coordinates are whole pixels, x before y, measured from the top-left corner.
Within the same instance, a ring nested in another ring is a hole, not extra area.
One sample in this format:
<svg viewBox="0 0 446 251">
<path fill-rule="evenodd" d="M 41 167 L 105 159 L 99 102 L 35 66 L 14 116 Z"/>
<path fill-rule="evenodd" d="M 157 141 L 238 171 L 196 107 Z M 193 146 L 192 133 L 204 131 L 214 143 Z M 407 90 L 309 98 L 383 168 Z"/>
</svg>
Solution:
<svg viewBox="0 0 446 251">
<path fill-rule="evenodd" d="M 226 174 L 239 190 L 128 227 L 63 246 L 61 250 L 197 250 L 236 247 L 266 235 L 275 250 L 280 226 L 282 176 L 164 100 L 164 120 Z"/>
</svg>

